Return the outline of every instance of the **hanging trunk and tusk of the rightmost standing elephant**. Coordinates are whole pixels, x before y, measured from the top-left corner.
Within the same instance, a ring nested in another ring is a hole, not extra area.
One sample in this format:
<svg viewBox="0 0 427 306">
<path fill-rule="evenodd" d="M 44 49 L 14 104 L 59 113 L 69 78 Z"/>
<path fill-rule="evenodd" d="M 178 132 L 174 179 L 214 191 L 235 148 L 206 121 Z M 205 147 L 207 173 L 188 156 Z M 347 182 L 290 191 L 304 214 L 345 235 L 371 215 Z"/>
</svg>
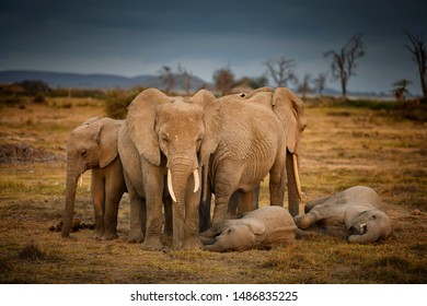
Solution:
<svg viewBox="0 0 427 306">
<path fill-rule="evenodd" d="M 298 157 L 295 153 L 286 153 L 286 170 L 288 178 L 288 201 L 289 213 L 295 216 L 299 214 L 300 201 L 302 200 L 301 186 L 298 172 Z"/>
</svg>

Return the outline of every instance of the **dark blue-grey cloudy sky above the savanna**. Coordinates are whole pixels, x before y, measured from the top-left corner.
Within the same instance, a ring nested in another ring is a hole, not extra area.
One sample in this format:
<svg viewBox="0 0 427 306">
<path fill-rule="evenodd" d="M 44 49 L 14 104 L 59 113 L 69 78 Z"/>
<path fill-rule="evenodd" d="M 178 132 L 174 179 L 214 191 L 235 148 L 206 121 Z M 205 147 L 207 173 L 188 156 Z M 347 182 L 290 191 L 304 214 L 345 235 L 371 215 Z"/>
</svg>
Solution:
<svg viewBox="0 0 427 306">
<path fill-rule="evenodd" d="M 221 68 L 261 76 L 266 60 L 285 57 L 300 79 L 315 78 L 331 75 L 325 51 L 361 34 L 348 91 L 388 93 L 407 79 L 420 94 L 403 28 L 427 40 L 426 12 L 425 0 L 0 0 L 0 70 L 135 76 L 181 63 L 212 82 Z"/>
</svg>

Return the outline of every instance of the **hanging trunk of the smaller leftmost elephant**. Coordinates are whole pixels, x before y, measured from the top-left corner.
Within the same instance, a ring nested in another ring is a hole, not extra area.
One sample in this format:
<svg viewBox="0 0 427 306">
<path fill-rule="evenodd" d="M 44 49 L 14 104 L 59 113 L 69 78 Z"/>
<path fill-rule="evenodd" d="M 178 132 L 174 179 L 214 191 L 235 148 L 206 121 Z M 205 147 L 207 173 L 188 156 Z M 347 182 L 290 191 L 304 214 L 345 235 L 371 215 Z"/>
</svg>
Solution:
<svg viewBox="0 0 427 306">
<path fill-rule="evenodd" d="M 74 214 L 74 202 L 76 202 L 76 191 L 77 183 L 82 172 L 78 169 L 76 163 L 72 160 L 68 160 L 67 166 L 67 195 L 66 195 L 66 210 L 64 214 L 64 224 L 62 224 L 62 237 L 68 237 L 71 229 L 72 216 Z"/>
</svg>

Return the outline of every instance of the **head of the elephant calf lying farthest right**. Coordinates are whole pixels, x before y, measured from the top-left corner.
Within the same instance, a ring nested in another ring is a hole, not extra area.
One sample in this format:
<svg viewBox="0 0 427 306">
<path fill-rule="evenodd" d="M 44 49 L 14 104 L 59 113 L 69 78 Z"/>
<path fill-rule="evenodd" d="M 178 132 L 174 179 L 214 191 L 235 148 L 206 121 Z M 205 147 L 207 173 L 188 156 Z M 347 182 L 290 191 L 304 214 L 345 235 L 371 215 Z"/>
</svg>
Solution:
<svg viewBox="0 0 427 306">
<path fill-rule="evenodd" d="M 381 210 L 367 210 L 358 214 L 348 210 L 345 212 L 345 224 L 353 232 L 349 243 L 369 244 L 385 239 L 392 232 L 390 217 Z"/>
</svg>

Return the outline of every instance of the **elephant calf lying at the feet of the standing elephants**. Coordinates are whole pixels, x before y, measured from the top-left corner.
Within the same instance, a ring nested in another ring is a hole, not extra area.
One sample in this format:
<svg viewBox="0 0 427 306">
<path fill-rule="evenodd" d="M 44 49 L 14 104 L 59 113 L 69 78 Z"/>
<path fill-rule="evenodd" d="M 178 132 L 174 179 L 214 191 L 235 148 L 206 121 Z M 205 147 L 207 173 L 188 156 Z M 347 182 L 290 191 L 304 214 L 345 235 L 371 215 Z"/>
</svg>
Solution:
<svg viewBox="0 0 427 306">
<path fill-rule="evenodd" d="M 292 244 L 297 226 L 288 210 L 265 207 L 242 219 L 223 220 L 200 234 L 204 249 L 209 251 L 246 250 Z"/>
</svg>

